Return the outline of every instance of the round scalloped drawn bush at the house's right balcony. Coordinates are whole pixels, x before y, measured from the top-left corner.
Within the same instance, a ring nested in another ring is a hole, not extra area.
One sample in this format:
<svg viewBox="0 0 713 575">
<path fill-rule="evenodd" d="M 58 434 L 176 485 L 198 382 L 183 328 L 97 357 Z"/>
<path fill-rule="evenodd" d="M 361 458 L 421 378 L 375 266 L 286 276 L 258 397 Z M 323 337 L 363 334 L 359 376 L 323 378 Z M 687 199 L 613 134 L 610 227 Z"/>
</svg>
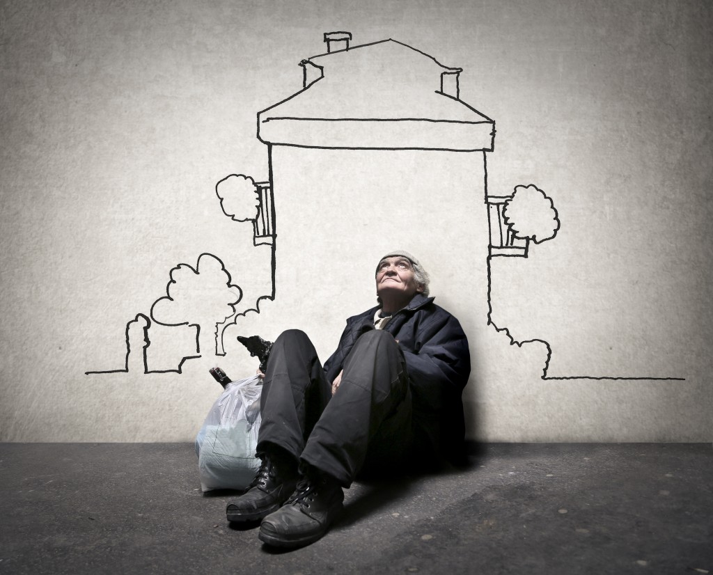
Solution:
<svg viewBox="0 0 713 575">
<path fill-rule="evenodd" d="M 515 237 L 540 244 L 552 239 L 560 229 L 553 201 L 533 184 L 515 186 L 515 193 L 505 202 L 503 220 Z"/>
</svg>

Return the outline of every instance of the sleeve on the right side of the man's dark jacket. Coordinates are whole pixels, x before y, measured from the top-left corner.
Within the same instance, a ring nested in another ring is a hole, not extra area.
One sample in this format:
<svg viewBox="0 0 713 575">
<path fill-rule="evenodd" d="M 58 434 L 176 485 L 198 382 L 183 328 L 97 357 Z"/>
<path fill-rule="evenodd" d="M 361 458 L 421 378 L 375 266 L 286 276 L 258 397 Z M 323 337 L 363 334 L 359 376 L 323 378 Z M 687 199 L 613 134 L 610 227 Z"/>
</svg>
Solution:
<svg viewBox="0 0 713 575">
<path fill-rule="evenodd" d="M 471 356 L 458 320 L 450 314 L 436 318 L 417 329 L 409 343 L 401 350 L 416 405 L 438 411 L 449 398 L 460 398 L 471 373 Z"/>
</svg>

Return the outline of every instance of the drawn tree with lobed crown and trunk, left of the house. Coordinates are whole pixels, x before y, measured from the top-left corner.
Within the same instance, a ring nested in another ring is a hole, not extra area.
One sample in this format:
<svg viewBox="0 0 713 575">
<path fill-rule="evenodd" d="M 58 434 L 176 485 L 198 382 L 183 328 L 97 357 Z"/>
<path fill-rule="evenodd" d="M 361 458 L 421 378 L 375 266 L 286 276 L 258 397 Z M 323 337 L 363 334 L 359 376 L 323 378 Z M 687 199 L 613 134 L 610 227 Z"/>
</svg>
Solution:
<svg viewBox="0 0 713 575">
<path fill-rule="evenodd" d="M 217 353 L 217 324 L 235 314 L 242 289 L 230 283 L 222 261 L 201 254 L 198 264 L 178 264 L 170 271 L 166 296 L 151 306 L 151 317 L 165 326 L 197 326 L 198 352 Z"/>
</svg>

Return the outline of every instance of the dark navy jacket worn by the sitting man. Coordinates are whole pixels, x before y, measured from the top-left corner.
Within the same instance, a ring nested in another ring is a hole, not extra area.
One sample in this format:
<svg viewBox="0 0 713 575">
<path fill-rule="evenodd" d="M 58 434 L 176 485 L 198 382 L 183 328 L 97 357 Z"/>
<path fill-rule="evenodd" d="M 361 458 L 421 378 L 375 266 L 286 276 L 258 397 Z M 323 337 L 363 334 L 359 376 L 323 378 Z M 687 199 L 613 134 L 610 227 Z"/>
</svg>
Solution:
<svg viewBox="0 0 713 575">
<path fill-rule="evenodd" d="M 465 435 L 461 394 L 471 373 L 471 355 L 461 324 L 433 302 L 432 297 L 416 294 L 384 329 L 399 340 L 406 359 L 416 450 L 458 462 L 463 457 Z M 379 306 L 347 319 L 337 351 L 324 363 L 328 381 L 342 371 L 356 339 L 374 329 L 377 309 Z"/>
</svg>

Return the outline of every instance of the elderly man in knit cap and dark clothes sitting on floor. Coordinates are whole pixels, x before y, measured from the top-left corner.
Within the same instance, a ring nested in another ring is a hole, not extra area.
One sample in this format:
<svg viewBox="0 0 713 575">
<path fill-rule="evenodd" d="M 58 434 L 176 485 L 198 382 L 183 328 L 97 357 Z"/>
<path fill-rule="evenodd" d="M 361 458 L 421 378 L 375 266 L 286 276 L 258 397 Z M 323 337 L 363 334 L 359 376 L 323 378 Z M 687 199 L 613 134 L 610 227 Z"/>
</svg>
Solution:
<svg viewBox="0 0 713 575">
<path fill-rule="evenodd" d="M 227 505 L 230 522 L 257 522 L 270 545 L 317 541 L 359 472 L 431 467 L 463 457 L 461 393 L 471 371 L 458 320 L 429 297 L 408 252 L 376 267 L 379 306 L 347 320 L 322 364 L 307 335 L 282 333 L 267 361 L 257 442 L 260 470 Z"/>
</svg>

